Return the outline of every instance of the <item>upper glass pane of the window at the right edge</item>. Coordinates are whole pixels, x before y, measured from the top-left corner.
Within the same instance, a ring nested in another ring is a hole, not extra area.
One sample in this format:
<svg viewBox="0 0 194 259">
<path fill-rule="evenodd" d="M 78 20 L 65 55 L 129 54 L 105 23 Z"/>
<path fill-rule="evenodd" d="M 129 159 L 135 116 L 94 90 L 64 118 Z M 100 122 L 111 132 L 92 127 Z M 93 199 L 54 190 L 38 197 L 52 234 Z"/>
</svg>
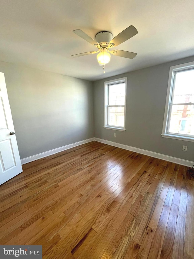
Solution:
<svg viewBox="0 0 194 259">
<path fill-rule="evenodd" d="M 194 102 L 194 69 L 176 72 L 173 104 Z"/>
</svg>

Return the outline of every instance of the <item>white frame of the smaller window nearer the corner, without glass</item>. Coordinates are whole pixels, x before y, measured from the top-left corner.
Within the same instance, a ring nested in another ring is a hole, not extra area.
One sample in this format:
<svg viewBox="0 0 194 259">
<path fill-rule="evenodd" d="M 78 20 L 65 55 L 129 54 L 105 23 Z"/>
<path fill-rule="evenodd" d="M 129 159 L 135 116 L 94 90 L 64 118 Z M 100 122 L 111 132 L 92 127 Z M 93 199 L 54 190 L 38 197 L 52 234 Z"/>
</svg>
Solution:
<svg viewBox="0 0 194 259">
<path fill-rule="evenodd" d="M 125 83 L 125 105 L 108 105 L 108 90 L 109 85 L 118 84 L 118 83 Z M 125 131 L 125 117 L 126 117 L 126 93 L 127 93 L 127 77 L 122 77 L 114 80 L 109 80 L 104 82 L 104 128 L 105 129 L 113 129 L 113 130 L 119 130 L 119 131 Z M 108 107 L 110 106 L 118 106 L 124 107 L 124 126 L 113 126 L 108 124 Z"/>
</svg>

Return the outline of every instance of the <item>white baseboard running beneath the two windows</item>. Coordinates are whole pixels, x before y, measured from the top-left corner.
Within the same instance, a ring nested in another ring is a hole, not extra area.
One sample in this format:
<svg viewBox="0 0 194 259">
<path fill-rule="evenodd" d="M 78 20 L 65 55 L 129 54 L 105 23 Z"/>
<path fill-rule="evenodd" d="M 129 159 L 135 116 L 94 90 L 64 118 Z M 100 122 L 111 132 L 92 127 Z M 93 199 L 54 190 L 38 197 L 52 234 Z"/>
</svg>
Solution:
<svg viewBox="0 0 194 259">
<path fill-rule="evenodd" d="M 169 161 L 169 162 L 173 162 L 173 163 L 176 163 L 176 164 L 179 164 L 179 165 L 185 165 L 185 166 L 192 167 L 193 164 L 194 164 L 193 161 L 189 161 L 189 160 L 185 160 L 185 159 L 181 159 L 181 158 L 176 158 L 176 157 L 169 156 L 169 155 L 163 155 L 163 154 L 160 154 L 160 153 L 148 151 L 148 150 L 141 149 L 141 148 L 134 148 L 134 147 L 119 144 L 119 143 L 112 142 L 112 141 L 105 140 L 105 139 L 94 138 L 94 140 L 98 141 L 98 142 L 101 142 L 101 143 L 104 143 L 104 144 L 107 144 L 107 145 L 110 145 L 110 146 L 126 149 L 126 150 L 137 152 L 137 153 L 140 153 L 140 154 L 143 154 L 143 155 L 149 155 L 149 156 L 159 158 L 159 159 L 162 159 L 162 160 L 166 160 L 166 161 Z"/>
</svg>

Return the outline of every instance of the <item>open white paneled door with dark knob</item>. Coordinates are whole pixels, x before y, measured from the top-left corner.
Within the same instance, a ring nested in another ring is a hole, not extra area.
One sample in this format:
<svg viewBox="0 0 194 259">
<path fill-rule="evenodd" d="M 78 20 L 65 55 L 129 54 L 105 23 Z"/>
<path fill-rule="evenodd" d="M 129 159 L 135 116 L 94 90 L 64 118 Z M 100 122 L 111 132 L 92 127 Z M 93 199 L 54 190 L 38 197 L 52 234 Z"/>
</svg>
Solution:
<svg viewBox="0 0 194 259">
<path fill-rule="evenodd" d="M 13 135 L 12 135 L 13 134 Z M 0 184 L 22 172 L 4 73 L 0 72 Z"/>
</svg>

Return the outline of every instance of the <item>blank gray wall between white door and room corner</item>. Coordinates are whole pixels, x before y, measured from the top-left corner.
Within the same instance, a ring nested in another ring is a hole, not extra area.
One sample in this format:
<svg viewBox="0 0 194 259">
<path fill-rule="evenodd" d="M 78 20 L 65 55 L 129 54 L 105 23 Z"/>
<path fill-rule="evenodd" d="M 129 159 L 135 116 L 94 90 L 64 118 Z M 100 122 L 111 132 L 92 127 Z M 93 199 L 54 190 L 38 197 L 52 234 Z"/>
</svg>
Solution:
<svg viewBox="0 0 194 259">
<path fill-rule="evenodd" d="M 92 82 L 0 62 L 20 158 L 92 138 Z"/>
</svg>

